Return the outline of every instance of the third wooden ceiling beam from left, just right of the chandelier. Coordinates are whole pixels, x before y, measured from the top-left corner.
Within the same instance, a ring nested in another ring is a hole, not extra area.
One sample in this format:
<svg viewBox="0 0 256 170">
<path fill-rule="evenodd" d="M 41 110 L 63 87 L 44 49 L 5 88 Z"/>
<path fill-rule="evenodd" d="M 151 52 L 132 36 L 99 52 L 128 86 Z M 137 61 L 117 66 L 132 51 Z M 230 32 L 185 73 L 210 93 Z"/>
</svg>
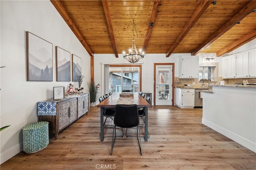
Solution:
<svg viewBox="0 0 256 170">
<path fill-rule="evenodd" d="M 149 24 L 155 22 L 156 13 L 157 13 L 159 3 L 160 3 L 160 0 L 155 0 L 154 1 L 154 5 L 153 5 L 153 8 L 152 8 L 149 23 L 148 23 L 148 30 L 147 30 L 147 33 L 146 33 L 146 38 L 144 39 L 143 51 L 146 51 L 146 49 L 147 49 L 149 37 L 150 37 L 150 34 L 152 32 L 152 26 L 150 26 Z"/>
</svg>

